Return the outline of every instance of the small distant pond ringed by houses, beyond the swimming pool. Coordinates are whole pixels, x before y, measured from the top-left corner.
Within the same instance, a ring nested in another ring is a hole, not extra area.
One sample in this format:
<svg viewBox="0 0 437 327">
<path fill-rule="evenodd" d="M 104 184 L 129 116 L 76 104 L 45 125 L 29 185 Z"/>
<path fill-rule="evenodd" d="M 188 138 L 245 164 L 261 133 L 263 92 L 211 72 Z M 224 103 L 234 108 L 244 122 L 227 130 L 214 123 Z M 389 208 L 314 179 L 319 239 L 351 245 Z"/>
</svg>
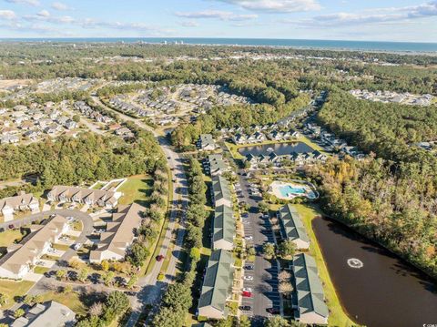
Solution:
<svg viewBox="0 0 437 327">
<path fill-rule="evenodd" d="M 271 152 L 275 152 L 278 156 L 283 156 L 293 153 L 307 153 L 312 151 L 314 151 L 314 149 L 303 142 L 265 144 L 262 146 L 239 148 L 239 153 L 245 157 L 249 154 L 257 157 L 260 155 L 267 156 Z"/>
</svg>

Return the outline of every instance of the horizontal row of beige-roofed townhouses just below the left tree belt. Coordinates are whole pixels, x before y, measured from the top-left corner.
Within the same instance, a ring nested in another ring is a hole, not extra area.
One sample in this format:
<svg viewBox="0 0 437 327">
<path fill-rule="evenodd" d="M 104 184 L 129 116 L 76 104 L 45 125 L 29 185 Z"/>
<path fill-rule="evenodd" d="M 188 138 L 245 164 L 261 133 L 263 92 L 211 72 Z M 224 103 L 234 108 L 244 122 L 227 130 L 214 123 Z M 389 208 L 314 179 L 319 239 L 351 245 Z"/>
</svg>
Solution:
<svg viewBox="0 0 437 327">
<path fill-rule="evenodd" d="M 76 202 L 90 207 L 97 206 L 107 209 L 117 207 L 120 192 L 102 189 L 84 189 L 69 186 L 56 186 L 47 194 L 47 199 L 59 202 Z"/>
</svg>

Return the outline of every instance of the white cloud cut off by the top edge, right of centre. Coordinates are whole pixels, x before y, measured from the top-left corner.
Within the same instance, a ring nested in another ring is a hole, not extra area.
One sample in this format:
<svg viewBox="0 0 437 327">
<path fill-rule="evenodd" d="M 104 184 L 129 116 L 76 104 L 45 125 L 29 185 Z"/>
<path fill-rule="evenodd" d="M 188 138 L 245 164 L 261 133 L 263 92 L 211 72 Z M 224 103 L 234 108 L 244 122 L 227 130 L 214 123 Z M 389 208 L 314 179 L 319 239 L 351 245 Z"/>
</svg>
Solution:
<svg viewBox="0 0 437 327">
<path fill-rule="evenodd" d="M 317 0 L 215 0 L 265 13 L 293 13 L 321 8 Z"/>
</svg>

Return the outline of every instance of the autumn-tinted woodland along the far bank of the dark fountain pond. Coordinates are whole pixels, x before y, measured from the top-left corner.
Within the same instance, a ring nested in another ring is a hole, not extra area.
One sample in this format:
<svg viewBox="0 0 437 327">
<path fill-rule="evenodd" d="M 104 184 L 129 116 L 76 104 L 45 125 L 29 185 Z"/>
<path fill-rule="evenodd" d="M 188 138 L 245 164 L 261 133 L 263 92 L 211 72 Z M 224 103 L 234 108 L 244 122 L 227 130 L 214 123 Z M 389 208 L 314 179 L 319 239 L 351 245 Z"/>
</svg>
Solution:
<svg viewBox="0 0 437 327">
<path fill-rule="evenodd" d="M 320 183 L 333 218 L 400 254 L 437 278 L 437 206 L 432 179 L 419 169 L 392 171 L 382 158 L 330 159 L 307 173 Z"/>
</svg>

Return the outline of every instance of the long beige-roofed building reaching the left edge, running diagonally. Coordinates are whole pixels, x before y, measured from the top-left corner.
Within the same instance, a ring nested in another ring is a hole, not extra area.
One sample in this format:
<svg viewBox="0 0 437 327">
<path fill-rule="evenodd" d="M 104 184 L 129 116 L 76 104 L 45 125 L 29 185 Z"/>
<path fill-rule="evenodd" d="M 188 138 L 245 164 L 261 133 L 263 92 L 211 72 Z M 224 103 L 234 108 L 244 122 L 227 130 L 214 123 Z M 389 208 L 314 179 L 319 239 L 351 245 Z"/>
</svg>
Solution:
<svg viewBox="0 0 437 327">
<path fill-rule="evenodd" d="M 0 278 L 22 279 L 68 228 L 62 216 L 55 216 L 46 225 L 32 225 L 30 235 L 22 243 L 10 246 L 0 260 Z"/>
</svg>

